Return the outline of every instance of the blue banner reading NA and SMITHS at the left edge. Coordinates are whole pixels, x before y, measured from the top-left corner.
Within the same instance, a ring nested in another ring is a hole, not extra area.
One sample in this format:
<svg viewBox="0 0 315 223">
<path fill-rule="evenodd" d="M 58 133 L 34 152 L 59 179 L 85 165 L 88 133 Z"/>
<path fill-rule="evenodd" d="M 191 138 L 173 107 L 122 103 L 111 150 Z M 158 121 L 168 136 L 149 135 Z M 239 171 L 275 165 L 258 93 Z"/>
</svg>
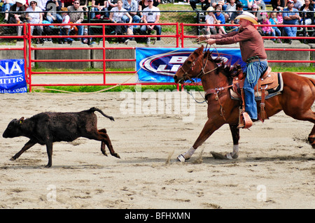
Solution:
<svg viewBox="0 0 315 223">
<path fill-rule="evenodd" d="M 0 93 L 25 93 L 24 59 L 0 59 Z"/>
</svg>

